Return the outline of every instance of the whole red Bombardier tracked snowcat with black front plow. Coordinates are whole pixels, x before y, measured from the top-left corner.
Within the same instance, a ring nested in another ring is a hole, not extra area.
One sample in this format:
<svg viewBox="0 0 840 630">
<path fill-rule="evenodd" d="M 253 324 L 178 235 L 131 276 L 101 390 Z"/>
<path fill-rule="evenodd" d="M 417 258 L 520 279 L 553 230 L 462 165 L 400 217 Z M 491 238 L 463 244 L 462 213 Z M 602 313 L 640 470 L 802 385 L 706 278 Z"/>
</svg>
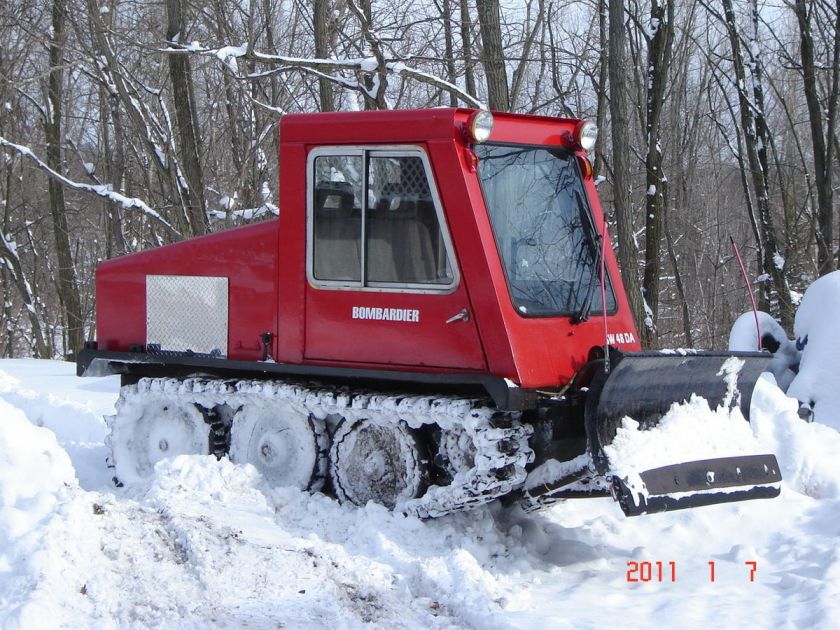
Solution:
<svg viewBox="0 0 840 630">
<path fill-rule="evenodd" d="M 770 357 L 641 352 L 594 140 L 484 110 L 283 116 L 279 217 L 97 269 L 78 373 L 121 376 L 115 481 L 199 453 L 421 517 L 776 496 L 772 454 L 640 470 L 610 448 L 692 393 L 748 417 Z"/>
</svg>

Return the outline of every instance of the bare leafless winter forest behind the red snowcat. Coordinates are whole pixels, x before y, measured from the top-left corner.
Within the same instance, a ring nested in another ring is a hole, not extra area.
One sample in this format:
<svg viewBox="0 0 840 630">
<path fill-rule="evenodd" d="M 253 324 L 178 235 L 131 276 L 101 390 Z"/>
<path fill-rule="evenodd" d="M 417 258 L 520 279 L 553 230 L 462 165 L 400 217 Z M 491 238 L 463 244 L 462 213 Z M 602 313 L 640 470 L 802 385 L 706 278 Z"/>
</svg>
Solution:
<svg viewBox="0 0 840 630">
<path fill-rule="evenodd" d="M 106 258 L 278 212 L 287 112 L 595 121 L 648 347 L 790 331 L 837 268 L 840 0 L 0 0 L 0 355 L 95 338 Z"/>
</svg>

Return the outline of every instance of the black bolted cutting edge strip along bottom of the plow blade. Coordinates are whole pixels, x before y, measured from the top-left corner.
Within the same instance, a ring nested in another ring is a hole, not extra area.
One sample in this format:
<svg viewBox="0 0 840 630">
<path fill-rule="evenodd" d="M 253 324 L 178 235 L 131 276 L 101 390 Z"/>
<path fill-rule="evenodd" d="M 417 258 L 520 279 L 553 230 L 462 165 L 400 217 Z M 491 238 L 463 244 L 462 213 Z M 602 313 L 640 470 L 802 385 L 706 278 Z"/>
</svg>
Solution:
<svg viewBox="0 0 840 630">
<path fill-rule="evenodd" d="M 610 479 L 610 494 L 626 516 L 779 496 L 782 480 L 774 455 L 703 459 L 639 474 L 643 488 Z"/>
</svg>

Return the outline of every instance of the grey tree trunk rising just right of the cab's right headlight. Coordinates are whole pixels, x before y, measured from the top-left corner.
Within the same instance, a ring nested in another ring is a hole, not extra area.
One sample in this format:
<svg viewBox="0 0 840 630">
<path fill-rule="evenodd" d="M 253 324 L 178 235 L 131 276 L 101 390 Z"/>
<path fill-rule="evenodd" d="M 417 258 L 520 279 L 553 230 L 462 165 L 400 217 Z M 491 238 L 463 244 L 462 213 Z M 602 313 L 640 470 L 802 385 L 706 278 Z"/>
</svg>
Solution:
<svg viewBox="0 0 840 630">
<path fill-rule="evenodd" d="M 645 312 L 639 285 L 636 243 L 633 239 L 633 211 L 630 200 L 630 121 L 626 77 L 629 74 L 624 51 L 624 2 L 609 0 L 609 78 L 612 118 L 613 203 L 615 205 L 618 262 L 624 279 L 630 310 L 639 329 Z"/>
</svg>

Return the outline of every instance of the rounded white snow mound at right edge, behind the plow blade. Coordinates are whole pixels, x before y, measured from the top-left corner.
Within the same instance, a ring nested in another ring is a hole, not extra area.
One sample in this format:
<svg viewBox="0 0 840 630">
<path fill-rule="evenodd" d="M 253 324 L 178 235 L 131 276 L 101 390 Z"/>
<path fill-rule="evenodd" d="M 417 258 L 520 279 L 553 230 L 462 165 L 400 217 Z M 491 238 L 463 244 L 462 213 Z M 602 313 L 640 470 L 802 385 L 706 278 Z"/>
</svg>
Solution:
<svg viewBox="0 0 840 630">
<path fill-rule="evenodd" d="M 802 349 L 799 374 L 787 390 L 789 396 L 813 408 L 814 420 L 840 431 L 840 387 L 837 359 L 840 335 L 840 271 L 816 280 L 805 291 L 793 330 Z"/>
</svg>

